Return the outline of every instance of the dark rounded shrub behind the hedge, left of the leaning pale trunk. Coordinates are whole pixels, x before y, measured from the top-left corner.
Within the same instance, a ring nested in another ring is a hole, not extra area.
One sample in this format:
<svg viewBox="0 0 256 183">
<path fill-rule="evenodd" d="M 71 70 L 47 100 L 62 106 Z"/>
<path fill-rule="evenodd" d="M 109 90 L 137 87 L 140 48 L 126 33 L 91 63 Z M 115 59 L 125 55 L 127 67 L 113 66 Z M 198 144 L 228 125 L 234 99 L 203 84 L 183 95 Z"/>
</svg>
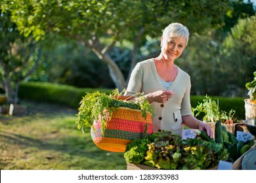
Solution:
<svg viewBox="0 0 256 183">
<path fill-rule="evenodd" d="M 79 88 L 114 88 L 106 65 L 80 42 L 58 38 L 44 41 L 41 64 L 28 80 L 68 84 Z"/>
</svg>

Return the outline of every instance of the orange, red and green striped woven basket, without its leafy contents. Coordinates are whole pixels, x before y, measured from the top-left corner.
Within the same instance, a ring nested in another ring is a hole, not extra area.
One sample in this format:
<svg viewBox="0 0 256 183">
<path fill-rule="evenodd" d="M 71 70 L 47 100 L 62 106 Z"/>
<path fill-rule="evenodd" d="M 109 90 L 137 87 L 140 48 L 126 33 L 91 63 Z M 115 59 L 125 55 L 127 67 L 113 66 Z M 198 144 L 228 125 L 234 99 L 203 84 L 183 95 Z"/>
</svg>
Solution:
<svg viewBox="0 0 256 183">
<path fill-rule="evenodd" d="M 146 127 L 146 129 L 145 129 Z M 152 115 L 147 114 L 146 120 L 140 110 L 118 107 L 112 111 L 107 120 L 104 135 L 101 133 L 101 122 L 94 122 L 91 137 L 96 146 L 110 152 L 125 152 L 125 148 L 133 139 L 142 138 L 144 133 L 153 133 Z"/>
</svg>

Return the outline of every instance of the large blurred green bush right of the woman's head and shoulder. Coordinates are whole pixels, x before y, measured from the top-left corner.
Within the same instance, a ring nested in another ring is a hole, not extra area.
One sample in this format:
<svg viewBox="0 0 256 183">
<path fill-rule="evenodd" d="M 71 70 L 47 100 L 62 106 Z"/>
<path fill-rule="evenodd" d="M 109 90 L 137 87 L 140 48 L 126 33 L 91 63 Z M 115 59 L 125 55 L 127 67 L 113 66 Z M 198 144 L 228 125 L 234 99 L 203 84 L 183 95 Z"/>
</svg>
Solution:
<svg viewBox="0 0 256 183">
<path fill-rule="evenodd" d="M 256 71 L 256 16 L 238 20 L 226 37 L 209 29 L 190 39 L 177 65 L 191 76 L 192 94 L 247 95 L 245 83 Z"/>
</svg>

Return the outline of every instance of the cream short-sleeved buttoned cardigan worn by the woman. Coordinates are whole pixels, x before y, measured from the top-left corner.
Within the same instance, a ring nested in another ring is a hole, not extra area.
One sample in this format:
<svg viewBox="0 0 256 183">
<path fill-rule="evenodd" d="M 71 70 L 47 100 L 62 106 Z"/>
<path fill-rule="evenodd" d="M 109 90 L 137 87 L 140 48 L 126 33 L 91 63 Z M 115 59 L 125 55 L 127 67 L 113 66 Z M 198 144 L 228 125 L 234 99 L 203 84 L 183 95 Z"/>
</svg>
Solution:
<svg viewBox="0 0 256 183">
<path fill-rule="evenodd" d="M 175 95 L 167 103 L 151 103 L 155 115 L 152 116 L 154 132 L 165 129 L 182 136 L 182 116 L 192 114 L 190 88 L 190 76 L 178 67 L 177 76 L 173 84 L 167 89 L 173 90 Z M 134 95 L 137 92 L 148 94 L 158 90 L 164 90 L 164 88 L 156 70 L 154 59 L 137 63 L 131 73 L 125 95 Z"/>
</svg>

